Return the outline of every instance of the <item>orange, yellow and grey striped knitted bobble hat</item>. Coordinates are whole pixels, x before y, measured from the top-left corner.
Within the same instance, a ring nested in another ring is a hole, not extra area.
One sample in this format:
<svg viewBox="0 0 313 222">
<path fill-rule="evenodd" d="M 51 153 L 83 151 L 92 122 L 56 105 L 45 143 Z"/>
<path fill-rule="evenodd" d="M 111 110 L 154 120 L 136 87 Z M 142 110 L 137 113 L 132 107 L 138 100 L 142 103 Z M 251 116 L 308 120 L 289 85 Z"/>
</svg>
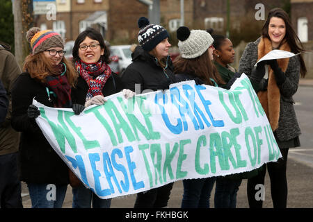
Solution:
<svg viewBox="0 0 313 222">
<path fill-rule="evenodd" d="M 61 47 L 64 49 L 62 36 L 52 30 L 40 31 L 40 28 L 33 27 L 27 31 L 26 39 L 31 44 L 33 55 L 52 47 Z"/>
</svg>

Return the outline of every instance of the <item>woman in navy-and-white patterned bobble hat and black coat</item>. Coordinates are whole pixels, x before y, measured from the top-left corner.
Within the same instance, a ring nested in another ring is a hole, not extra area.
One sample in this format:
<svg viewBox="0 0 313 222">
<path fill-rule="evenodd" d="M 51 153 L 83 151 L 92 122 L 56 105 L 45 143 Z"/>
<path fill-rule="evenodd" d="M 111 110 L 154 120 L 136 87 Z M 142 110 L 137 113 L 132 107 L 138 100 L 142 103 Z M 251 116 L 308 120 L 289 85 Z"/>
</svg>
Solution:
<svg viewBox="0 0 313 222">
<path fill-rule="evenodd" d="M 133 62 L 125 69 L 122 82 L 136 94 L 168 89 L 175 83 L 174 67 L 168 50 L 168 31 L 162 26 L 150 24 L 146 17 L 138 19 L 139 46 L 131 54 Z M 138 86 L 138 87 L 137 87 Z M 137 194 L 134 207 L 160 208 L 168 205 L 173 183 Z"/>
</svg>

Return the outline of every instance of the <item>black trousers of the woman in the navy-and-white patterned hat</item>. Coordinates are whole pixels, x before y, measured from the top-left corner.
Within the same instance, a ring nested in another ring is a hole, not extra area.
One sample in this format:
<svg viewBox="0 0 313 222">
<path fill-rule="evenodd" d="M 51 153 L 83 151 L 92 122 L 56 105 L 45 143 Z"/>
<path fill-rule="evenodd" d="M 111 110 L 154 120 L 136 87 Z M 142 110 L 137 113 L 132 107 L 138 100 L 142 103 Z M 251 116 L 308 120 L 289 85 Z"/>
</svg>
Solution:
<svg viewBox="0 0 313 222">
<path fill-rule="evenodd" d="M 163 187 L 158 187 L 137 194 L 134 208 L 161 208 L 168 205 L 170 191 L 172 190 L 171 182 Z"/>
</svg>

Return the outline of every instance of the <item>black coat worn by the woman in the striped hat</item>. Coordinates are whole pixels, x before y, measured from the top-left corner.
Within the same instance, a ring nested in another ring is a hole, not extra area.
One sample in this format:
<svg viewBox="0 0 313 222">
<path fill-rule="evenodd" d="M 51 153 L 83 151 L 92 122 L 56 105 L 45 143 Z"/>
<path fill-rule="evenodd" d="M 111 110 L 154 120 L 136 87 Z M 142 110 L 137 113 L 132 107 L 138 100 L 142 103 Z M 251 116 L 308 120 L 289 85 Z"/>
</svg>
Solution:
<svg viewBox="0 0 313 222">
<path fill-rule="evenodd" d="M 33 98 L 43 105 L 54 107 L 56 99 L 47 95 L 46 87 L 24 72 L 12 89 L 12 126 L 22 132 L 19 145 L 21 155 L 21 180 L 30 183 L 67 185 L 68 168 L 42 134 L 34 119 L 29 119 L 27 109 Z"/>
</svg>

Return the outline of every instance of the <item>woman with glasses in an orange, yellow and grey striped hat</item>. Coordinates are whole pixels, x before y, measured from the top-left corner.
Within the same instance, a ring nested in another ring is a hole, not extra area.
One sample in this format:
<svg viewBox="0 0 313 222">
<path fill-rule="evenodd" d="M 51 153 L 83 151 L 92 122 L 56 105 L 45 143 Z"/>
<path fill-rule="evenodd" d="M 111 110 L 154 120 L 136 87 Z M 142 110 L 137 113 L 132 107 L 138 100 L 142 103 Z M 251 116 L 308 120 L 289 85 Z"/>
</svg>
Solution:
<svg viewBox="0 0 313 222">
<path fill-rule="evenodd" d="M 32 207 L 60 208 L 69 183 L 68 168 L 35 122 L 40 111 L 33 99 L 52 108 L 73 108 L 71 87 L 77 73 L 64 57 L 59 33 L 31 28 L 26 33 L 32 53 L 24 61 L 12 90 L 12 126 L 22 132 L 20 142 L 21 178 L 27 183 Z"/>
</svg>

